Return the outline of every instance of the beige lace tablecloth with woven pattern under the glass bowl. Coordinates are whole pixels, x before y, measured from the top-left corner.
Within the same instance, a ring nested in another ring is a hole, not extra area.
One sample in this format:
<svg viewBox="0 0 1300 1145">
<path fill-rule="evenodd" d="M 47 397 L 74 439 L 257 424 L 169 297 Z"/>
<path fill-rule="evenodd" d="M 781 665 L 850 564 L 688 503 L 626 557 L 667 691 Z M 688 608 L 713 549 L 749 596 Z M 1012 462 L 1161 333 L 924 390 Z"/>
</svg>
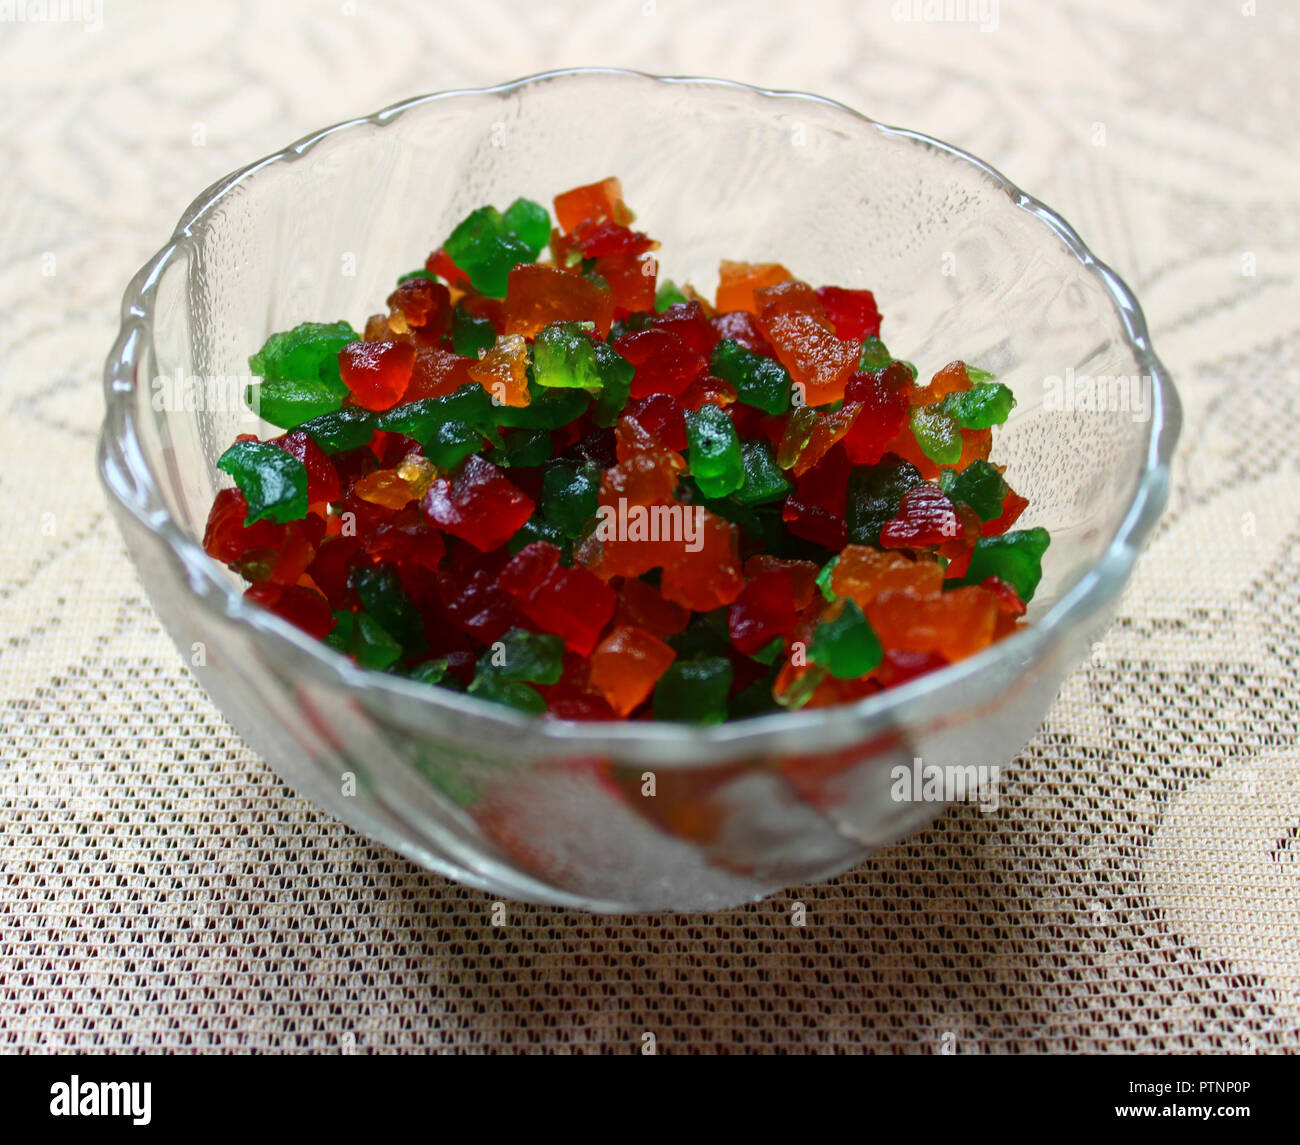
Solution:
<svg viewBox="0 0 1300 1145">
<path fill-rule="evenodd" d="M 1296 18 L 965 6 L 987 18 L 107 0 L 88 30 L 0 22 L 0 1046 L 1300 1049 Z M 1135 287 L 1187 428 L 1119 620 L 996 815 L 746 910 L 498 928 L 286 790 L 187 675 L 94 478 L 99 370 L 127 277 L 226 170 L 419 91 L 598 62 L 815 90 L 985 156 Z"/>
</svg>

